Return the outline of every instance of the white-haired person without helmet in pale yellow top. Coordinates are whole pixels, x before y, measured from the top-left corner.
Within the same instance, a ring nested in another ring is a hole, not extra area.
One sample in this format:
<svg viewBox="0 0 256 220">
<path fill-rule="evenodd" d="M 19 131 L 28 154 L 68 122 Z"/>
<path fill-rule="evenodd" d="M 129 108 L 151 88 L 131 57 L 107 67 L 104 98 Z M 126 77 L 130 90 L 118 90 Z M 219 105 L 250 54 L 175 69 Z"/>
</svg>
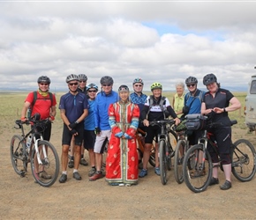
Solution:
<svg viewBox="0 0 256 220">
<path fill-rule="evenodd" d="M 184 106 L 184 83 L 179 82 L 176 84 L 176 93 L 172 100 L 173 110 L 177 114 L 177 117 L 181 117 L 182 108 Z"/>
</svg>

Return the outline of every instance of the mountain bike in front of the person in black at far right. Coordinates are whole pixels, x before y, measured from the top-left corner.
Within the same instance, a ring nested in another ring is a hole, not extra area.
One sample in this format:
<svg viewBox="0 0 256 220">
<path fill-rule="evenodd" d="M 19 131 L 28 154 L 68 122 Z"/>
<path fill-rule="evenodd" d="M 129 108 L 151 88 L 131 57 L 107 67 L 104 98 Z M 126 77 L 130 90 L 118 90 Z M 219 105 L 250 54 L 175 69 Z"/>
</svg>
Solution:
<svg viewBox="0 0 256 220">
<path fill-rule="evenodd" d="M 184 156 L 183 173 L 186 186 L 194 193 L 200 193 L 207 189 L 213 173 L 213 163 L 207 150 L 207 144 L 217 150 L 218 143 L 214 137 L 207 132 L 207 128 L 217 128 L 221 126 L 220 122 L 207 121 L 204 135 L 199 143 L 187 150 Z M 237 124 L 237 121 L 231 121 L 231 125 Z M 217 151 L 216 151 L 217 152 Z M 233 175 L 242 182 L 250 181 L 255 175 L 256 152 L 248 140 L 239 139 L 230 145 L 231 171 Z M 220 163 L 222 170 L 222 164 Z"/>
</svg>

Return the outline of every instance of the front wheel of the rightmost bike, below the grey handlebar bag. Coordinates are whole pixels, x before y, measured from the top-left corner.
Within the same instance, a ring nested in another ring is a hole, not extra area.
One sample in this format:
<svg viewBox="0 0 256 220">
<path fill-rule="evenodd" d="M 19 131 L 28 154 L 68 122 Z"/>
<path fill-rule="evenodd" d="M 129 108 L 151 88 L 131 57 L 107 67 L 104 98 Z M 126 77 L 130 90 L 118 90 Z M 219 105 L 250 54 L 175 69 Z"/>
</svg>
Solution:
<svg viewBox="0 0 256 220">
<path fill-rule="evenodd" d="M 197 144 L 186 151 L 183 162 L 183 175 L 185 185 L 194 193 L 207 189 L 213 172 L 213 163 L 203 145 Z"/>
</svg>

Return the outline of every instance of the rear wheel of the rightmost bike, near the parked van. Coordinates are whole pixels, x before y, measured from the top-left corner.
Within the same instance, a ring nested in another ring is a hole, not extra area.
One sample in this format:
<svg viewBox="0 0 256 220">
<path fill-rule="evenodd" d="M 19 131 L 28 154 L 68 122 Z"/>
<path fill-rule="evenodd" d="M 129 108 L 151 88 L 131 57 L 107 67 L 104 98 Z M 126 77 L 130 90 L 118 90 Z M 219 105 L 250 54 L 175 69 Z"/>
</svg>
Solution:
<svg viewBox="0 0 256 220">
<path fill-rule="evenodd" d="M 234 143 L 232 173 L 242 182 L 250 181 L 255 175 L 255 149 L 248 140 L 239 139 Z"/>
</svg>

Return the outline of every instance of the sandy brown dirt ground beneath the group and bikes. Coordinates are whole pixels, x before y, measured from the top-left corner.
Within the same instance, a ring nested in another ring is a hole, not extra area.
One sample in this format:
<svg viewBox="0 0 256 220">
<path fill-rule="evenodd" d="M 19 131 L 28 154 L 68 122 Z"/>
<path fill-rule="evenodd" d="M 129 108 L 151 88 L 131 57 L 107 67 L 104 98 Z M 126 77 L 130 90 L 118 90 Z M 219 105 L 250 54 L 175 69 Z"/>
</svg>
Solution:
<svg viewBox="0 0 256 220">
<path fill-rule="evenodd" d="M 20 178 L 11 166 L 9 144 L 18 130 L 1 128 L 0 154 L 0 219 L 254 219 L 256 190 L 254 178 L 239 182 L 232 176 L 232 188 L 208 187 L 200 194 L 192 193 L 185 184 L 178 185 L 173 169 L 167 185 L 150 165 L 147 177 L 138 186 L 110 187 L 104 179 L 90 182 L 88 166 L 80 166 L 82 180 L 58 180 L 52 187 L 34 183 L 31 171 Z M 233 140 L 244 137 L 256 146 L 255 134 L 233 128 Z M 53 125 L 51 143 L 61 155 L 61 122 Z M 88 158 L 86 154 L 86 158 Z M 224 181 L 220 172 L 221 183 Z"/>
</svg>

